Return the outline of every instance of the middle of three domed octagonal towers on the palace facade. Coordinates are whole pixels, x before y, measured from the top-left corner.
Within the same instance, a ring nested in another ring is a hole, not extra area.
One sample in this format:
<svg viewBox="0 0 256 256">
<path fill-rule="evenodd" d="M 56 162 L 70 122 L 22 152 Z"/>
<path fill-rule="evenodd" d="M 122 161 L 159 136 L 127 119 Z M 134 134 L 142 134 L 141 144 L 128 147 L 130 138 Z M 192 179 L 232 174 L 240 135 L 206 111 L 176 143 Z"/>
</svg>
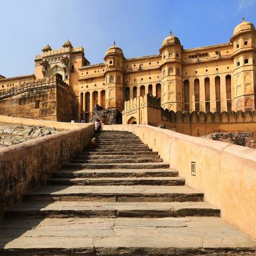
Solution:
<svg viewBox="0 0 256 256">
<path fill-rule="evenodd" d="M 162 55 L 162 92 L 161 106 L 163 109 L 174 110 L 183 109 L 182 88 L 181 88 L 181 49 L 180 40 L 176 36 L 170 35 L 163 40 L 159 49 Z"/>
</svg>

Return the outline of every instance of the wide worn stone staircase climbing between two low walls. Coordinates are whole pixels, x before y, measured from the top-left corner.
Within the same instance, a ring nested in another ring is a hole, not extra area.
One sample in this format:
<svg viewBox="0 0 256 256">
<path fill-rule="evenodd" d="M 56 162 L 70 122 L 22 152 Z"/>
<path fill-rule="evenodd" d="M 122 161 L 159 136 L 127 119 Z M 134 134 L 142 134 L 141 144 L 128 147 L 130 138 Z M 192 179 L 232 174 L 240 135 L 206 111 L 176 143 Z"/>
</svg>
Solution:
<svg viewBox="0 0 256 256">
<path fill-rule="evenodd" d="M 0 255 L 253 255 L 255 242 L 134 134 L 95 137 L 5 210 Z"/>
</svg>

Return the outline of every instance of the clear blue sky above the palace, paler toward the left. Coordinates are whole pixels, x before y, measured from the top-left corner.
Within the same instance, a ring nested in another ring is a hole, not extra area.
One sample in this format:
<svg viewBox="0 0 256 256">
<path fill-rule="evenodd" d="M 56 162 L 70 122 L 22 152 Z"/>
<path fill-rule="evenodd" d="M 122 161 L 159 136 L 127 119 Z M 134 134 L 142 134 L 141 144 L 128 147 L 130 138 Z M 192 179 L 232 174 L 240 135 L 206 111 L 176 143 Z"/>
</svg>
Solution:
<svg viewBox="0 0 256 256">
<path fill-rule="evenodd" d="M 256 25 L 256 0 L 9 0 L 1 1 L 0 74 L 34 72 L 48 43 L 83 46 L 103 62 L 113 41 L 125 57 L 159 53 L 170 29 L 184 48 L 229 42 L 244 16 Z"/>
</svg>

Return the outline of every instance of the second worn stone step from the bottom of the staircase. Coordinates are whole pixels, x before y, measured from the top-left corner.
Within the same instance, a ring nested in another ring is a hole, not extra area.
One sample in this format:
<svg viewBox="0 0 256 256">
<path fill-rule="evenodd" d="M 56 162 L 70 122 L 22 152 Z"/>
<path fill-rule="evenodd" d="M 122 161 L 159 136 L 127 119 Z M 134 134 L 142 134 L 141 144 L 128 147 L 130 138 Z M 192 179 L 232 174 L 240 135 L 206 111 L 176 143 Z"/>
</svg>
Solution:
<svg viewBox="0 0 256 256">
<path fill-rule="evenodd" d="M 220 209 L 205 202 L 49 201 L 20 203 L 5 210 L 5 218 L 163 218 L 220 216 Z"/>
</svg>

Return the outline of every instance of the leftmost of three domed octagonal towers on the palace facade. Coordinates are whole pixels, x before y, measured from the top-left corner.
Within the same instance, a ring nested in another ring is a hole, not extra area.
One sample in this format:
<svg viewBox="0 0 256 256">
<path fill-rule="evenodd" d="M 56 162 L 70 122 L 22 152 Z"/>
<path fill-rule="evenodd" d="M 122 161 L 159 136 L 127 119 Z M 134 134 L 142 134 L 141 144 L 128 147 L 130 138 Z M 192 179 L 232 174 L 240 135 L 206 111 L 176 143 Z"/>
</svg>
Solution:
<svg viewBox="0 0 256 256">
<path fill-rule="evenodd" d="M 106 109 L 123 110 L 123 51 L 114 45 L 108 48 L 105 57 Z"/>
</svg>

